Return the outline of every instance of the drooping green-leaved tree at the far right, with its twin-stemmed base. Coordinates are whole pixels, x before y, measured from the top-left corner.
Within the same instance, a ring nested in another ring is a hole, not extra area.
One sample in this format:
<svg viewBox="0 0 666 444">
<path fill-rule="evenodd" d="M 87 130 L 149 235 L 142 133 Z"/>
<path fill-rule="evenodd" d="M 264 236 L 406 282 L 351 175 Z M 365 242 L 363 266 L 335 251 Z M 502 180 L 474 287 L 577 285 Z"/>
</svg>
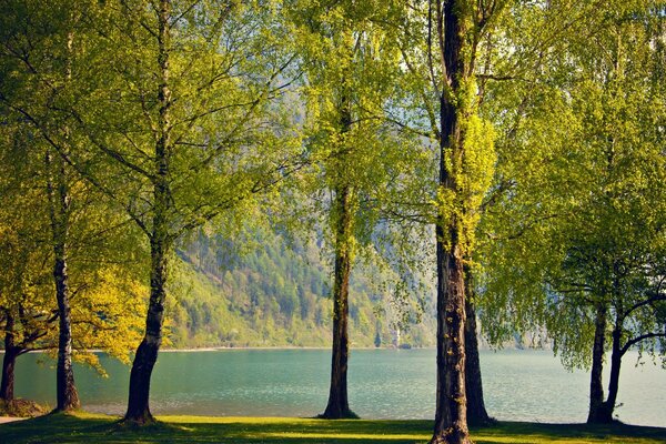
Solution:
<svg viewBox="0 0 666 444">
<path fill-rule="evenodd" d="M 655 124 L 663 120 L 663 61 L 653 33 L 663 19 L 649 2 L 589 17 L 594 39 L 563 39 L 546 65 L 548 82 L 533 89 L 513 129 L 518 155 L 511 162 L 522 173 L 500 204 L 495 222 L 504 228 L 492 231 L 498 242 L 487 258 L 494 302 L 486 324 L 494 340 L 516 325 L 545 326 L 568 366 L 592 363 L 588 422 L 609 422 L 622 356 L 642 341 L 654 353 L 664 327 L 664 158 Z M 543 147 L 538 155 L 519 154 L 529 144 Z M 507 220 L 522 222 L 507 230 Z"/>
</svg>

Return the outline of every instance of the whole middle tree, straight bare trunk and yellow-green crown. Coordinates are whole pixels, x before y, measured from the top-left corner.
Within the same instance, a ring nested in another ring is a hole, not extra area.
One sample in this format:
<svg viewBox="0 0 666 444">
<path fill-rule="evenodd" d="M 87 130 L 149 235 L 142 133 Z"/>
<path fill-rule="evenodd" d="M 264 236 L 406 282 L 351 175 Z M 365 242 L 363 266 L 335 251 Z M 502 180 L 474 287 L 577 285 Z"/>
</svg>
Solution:
<svg viewBox="0 0 666 444">
<path fill-rule="evenodd" d="M 316 169 L 301 184 L 325 214 L 333 245 L 333 341 L 325 418 L 356 417 L 347 400 L 350 275 L 356 256 L 372 243 L 387 189 L 406 171 L 407 141 L 385 112 L 396 93 L 395 36 L 381 23 L 393 20 L 392 2 L 290 3 L 294 44 L 301 56 L 306 110 L 304 131 Z M 376 239 L 375 239 L 376 240 Z"/>
</svg>

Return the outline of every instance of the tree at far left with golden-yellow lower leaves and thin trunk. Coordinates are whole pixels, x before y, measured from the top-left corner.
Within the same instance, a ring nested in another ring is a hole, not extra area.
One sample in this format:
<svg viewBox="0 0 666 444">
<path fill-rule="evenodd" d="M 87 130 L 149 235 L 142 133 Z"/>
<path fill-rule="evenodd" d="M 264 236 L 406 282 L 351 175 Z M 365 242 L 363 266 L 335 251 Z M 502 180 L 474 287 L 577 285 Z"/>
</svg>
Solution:
<svg viewBox="0 0 666 444">
<path fill-rule="evenodd" d="M 12 154 L 13 147 L 13 154 L 22 155 L 14 155 L 3 167 L 9 174 L 29 183 L 29 195 L 34 199 L 29 202 L 34 214 L 23 215 L 28 222 L 21 225 L 24 231 L 21 248 L 37 242 L 40 245 L 37 259 L 41 254 L 53 264 L 57 316 L 46 317 L 59 322 L 56 411 L 67 411 L 80 405 L 72 369 L 74 349 L 107 349 L 127 360 L 127 341 L 135 337 L 137 317 L 132 314 L 121 316 L 119 306 L 134 306 L 135 292 L 130 287 L 135 283 L 135 275 L 128 274 L 121 264 L 135 263 L 141 256 L 141 244 L 135 242 L 135 231 L 128 229 L 128 221 L 119 216 L 118 206 L 109 205 L 99 190 L 82 181 L 81 172 L 75 168 L 79 165 L 71 162 L 72 153 L 89 152 L 71 111 L 78 94 L 90 91 L 91 87 L 81 75 L 82 64 L 90 61 L 81 42 L 90 37 L 91 30 L 83 26 L 82 3 L 57 3 L 48 8 L 33 1 L 3 4 L 0 102 L 3 132 L 9 134 L 7 140 L 13 140 L 13 144 L 2 147 L 2 154 Z M 81 90 L 83 85 L 87 88 Z M 87 167 L 99 167 L 95 160 L 88 155 Z M 16 215 L 22 214 L 21 203 L 26 196 L 20 195 L 20 189 L 23 186 L 14 184 L 11 195 L 7 196 Z M 42 191 L 37 192 L 40 188 Z M 44 225 L 39 218 L 49 221 L 46 225 L 50 233 L 48 240 L 40 231 Z M 41 249 L 43 244 L 50 245 L 50 254 Z M 134 251 L 125 253 L 131 244 Z M 112 259 L 100 260 L 104 255 Z M 19 261 L 19 258 L 8 260 Z M 9 324 L 18 326 L 16 321 L 23 317 L 20 324 L 26 330 L 26 315 L 44 317 L 43 313 L 51 310 L 43 301 L 27 296 L 20 287 L 39 276 L 32 272 L 43 264 L 38 265 L 34 261 L 29 261 L 31 273 L 17 281 L 19 287 L 10 295 L 19 317 L 9 316 Z M 115 281 L 114 275 L 122 275 L 125 281 Z M 120 296 L 119 292 L 124 295 Z M 75 304 L 71 302 L 73 296 Z M 30 306 L 37 307 L 36 315 L 27 311 L 26 297 Z M 123 334 L 120 340 L 109 334 L 110 325 Z M 44 325 L 43 331 L 23 332 L 23 345 L 28 345 L 27 339 L 32 337 L 31 342 L 34 342 L 37 335 L 39 343 L 31 344 L 28 350 L 34 346 L 52 350 L 52 331 L 48 326 Z M 77 331 L 84 336 L 75 339 Z M 16 343 L 16 334 L 11 340 Z M 79 357 L 97 363 L 97 357 L 90 353 Z"/>
</svg>

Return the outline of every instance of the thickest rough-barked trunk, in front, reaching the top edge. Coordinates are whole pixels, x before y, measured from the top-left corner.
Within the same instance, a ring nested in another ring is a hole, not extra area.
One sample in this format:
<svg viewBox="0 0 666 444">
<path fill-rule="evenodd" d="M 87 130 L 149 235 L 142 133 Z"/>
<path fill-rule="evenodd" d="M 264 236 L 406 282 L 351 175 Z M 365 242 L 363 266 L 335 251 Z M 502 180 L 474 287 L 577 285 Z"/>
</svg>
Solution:
<svg viewBox="0 0 666 444">
<path fill-rule="evenodd" d="M 464 18 L 454 0 L 443 2 L 437 16 L 440 50 L 446 67 L 446 89 L 440 98 L 440 186 L 457 198 L 456 181 L 462 168 L 463 133 L 460 110 L 453 98 L 465 77 Z M 457 199 L 456 199 L 457 201 Z M 463 269 L 463 221 L 460 210 L 440 213 L 437 244 L 437 395 L 435 427 L 431 443 L 471 443 L 465 394 L 465 278 Z"/>
</svg>

